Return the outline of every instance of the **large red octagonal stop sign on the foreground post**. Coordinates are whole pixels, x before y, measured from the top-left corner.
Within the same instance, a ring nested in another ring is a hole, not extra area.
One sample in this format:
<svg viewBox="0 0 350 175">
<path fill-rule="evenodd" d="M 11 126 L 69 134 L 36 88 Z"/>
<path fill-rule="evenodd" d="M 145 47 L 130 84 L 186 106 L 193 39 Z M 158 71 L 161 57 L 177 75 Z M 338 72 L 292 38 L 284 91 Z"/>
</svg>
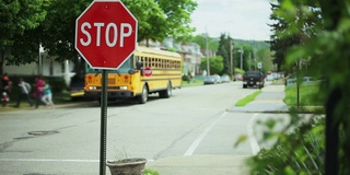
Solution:
<svg viewBox="0 0 350 175">
<path fill-rule="evenodd" d="M 75 49 L 94 69 L 118 69 L 137 46 L 137 19 L 119 0 L 95 0 L 75 21 Z"/>
</svg>

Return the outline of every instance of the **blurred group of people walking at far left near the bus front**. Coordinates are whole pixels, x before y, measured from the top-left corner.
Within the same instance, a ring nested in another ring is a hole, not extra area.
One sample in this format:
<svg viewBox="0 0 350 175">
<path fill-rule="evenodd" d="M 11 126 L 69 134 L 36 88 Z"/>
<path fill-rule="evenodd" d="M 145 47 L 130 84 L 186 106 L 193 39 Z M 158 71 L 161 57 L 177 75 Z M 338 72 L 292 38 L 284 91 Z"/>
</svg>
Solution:
<svg viewBox="0 0 350 175">
<path fill-rule="evenodd" d="M 52 92 L 51 88 L 48 83 L 46 83 L 40 75 L 35 78 L 36 83 L 33 84 L 34 92 L 33 96 L 36 100 L 35 108 L 38 108 L 40 103 L 44 103 L 45 105 L 54 106 L 52 102 Z M 2 84 L 2 106 L 7 106 L 8 102 L 10 101 L 10 92 L 12 89 L 12 82 L 10 81 L 7 73 L 4 73 L 1 78 L 1 84 Z M 31 107 L 34 106 L 34 103 L 31 98 L 31 90 L 32 85 L 23 80 L 23 78 L 19 79 L 19 88 L 20 88 L 20 95 L 16 101 L 16 105 L 14 107 L 20 107 L 21 101 L 26 100 Z"/>
</svg>

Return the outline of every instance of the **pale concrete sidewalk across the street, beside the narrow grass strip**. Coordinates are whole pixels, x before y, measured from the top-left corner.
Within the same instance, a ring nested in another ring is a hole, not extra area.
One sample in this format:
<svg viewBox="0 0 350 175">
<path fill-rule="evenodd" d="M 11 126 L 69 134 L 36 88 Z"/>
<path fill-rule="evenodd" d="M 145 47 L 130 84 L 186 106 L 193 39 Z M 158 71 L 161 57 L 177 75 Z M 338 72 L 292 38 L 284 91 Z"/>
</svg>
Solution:
<svg viewBox="0 0 350 175">
<path fill-rule="evenodd" d="M 289 107 L 283 102 L 284 85 L 267 84 L 253 102 L 246 106 L 234 106 L 232 112 L 242 113 L 285 113 Z"/>
</svg>

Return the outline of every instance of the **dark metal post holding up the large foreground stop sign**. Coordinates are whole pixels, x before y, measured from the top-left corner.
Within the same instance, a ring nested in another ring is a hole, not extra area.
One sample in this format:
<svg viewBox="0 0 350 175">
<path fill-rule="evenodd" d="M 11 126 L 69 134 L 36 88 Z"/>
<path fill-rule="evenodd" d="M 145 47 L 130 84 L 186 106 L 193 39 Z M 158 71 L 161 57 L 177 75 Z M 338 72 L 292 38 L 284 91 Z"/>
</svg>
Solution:
<svg viewBox="0 0 350 175">
<path fill-rule="evenodd" d="M 101 141 L 100 141 L 100 175 L 106 174 L 106 138 L 107 138 L 107 70 L 102 70 L 101 94 Z"/>
</svg>

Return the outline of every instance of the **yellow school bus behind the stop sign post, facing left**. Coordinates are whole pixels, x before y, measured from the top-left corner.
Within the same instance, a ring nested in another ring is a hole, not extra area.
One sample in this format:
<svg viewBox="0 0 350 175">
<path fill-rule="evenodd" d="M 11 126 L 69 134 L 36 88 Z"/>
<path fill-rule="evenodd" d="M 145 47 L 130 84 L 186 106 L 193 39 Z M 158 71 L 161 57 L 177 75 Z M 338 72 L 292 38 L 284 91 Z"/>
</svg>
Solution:
<svg viewBox="0 0 350 175">
<path fill-rule="evenodd" d="M 138 46 L 117 70 L 108 70 L 108 101 L 136 98 L 140 104 L 149 94 L 172 96 L 172 90 L 182 86 L 183 59 L 179 54 Z M 86 65 L 84 96 L 101 101 L 102 71 Z"/>
</svg>

